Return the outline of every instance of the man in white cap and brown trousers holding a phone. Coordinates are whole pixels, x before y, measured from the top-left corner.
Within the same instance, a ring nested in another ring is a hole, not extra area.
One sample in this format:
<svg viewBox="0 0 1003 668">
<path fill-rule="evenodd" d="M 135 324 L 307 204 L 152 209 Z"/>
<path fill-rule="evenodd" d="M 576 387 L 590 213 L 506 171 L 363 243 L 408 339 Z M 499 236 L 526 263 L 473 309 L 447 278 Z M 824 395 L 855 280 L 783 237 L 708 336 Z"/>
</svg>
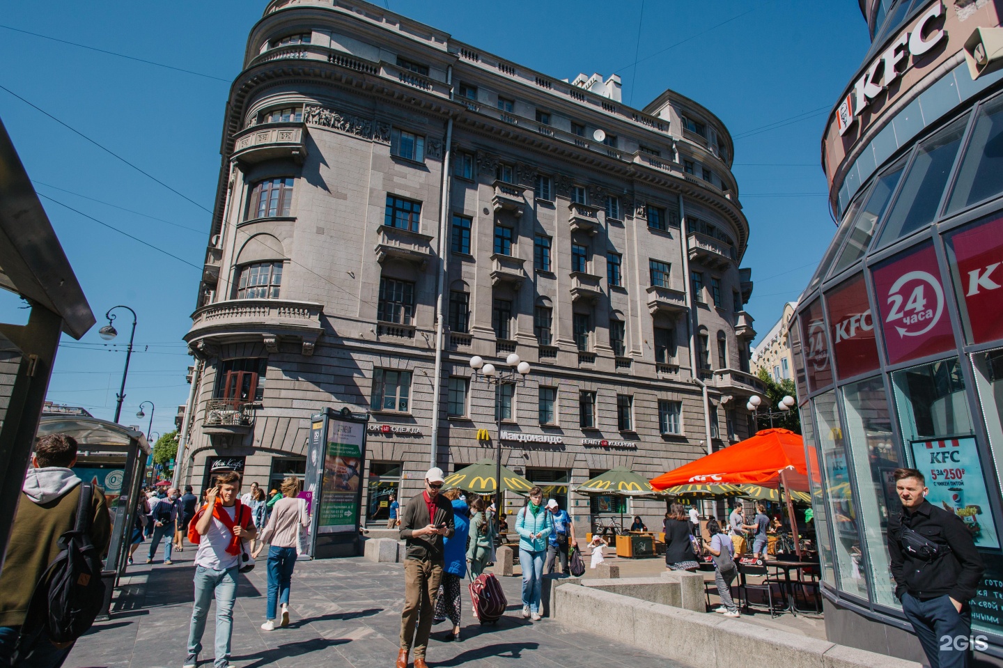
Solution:
<svg viewBox="0 0 1003 668">
<path fill-rule="evenodd" d="M 414 668 L 427 668 L 425 650 L 432 629 L 435 596 L 442 580 L 442 539 L 452 538 L 453 533 L 452 504 L 439 494 L 443 479 L 441 468 L 429 468 L 424 491 L 411 497 L 400 518 L 400 538 L 407 543 L 407 552 L 396 668 L 407 668 L 407 655 L 412 648 Z"/>
</svg>

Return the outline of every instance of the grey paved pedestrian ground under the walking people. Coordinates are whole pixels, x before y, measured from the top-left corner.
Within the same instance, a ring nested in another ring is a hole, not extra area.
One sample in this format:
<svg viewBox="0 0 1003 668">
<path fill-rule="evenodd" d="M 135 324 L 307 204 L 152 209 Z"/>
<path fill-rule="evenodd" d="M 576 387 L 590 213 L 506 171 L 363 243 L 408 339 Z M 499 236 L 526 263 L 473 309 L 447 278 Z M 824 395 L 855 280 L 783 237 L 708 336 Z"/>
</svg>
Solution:
<svg viewBox="0 0 1003 668">
<path fill-rule="evenodd" d="M 140 549 L 137 555 L 142 555 Z M 129 567 L 116 590 L 111 620 L 95 624 L 77 641 L 66 668 L 179 668 L 185 659 L 192 614 L 195 550 L 175 563 Z M 144 561 L 144 560 L 143 560 Z M 438 640 L 448 622 L 433 627 L 427 660 L 431 668 L 684 668 L 682 664 L 572 631 L 545 619 L 522 618 L 521 580 L 501 578 L 509 613 L 496 625 L 480 626 L 469 605 L 463 610 L 461 643 Z M 465 582 L 464 582 L 465 585 Z M 262 631 L 267 595 L 265 562 L 241 576 L 234 607 L 231 666 L 265 668 L 390 668 L 397 656 L 404 576 L 400 564 L 362 558 L 301 561 L 293 574 L 292 622 Z M 213 659 L 215 608 L 203 644 L 203 666 Z"/>
</svg>

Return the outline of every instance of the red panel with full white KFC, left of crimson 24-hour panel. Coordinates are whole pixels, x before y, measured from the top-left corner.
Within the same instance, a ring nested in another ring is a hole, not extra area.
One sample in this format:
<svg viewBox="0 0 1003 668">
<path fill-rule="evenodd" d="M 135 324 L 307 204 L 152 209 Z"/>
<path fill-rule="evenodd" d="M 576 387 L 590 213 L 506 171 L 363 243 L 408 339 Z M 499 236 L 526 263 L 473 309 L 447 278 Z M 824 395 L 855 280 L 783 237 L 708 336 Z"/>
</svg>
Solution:
<svg viewBox="0 0 1003 668">
<path fill-rule="evenodd" d="M 875 322 L 868 302 L 864 274 L 844 281 L 825 294 L 832 356 L 840 378 L 850 378 L 879 367 Z"/>
</svg>

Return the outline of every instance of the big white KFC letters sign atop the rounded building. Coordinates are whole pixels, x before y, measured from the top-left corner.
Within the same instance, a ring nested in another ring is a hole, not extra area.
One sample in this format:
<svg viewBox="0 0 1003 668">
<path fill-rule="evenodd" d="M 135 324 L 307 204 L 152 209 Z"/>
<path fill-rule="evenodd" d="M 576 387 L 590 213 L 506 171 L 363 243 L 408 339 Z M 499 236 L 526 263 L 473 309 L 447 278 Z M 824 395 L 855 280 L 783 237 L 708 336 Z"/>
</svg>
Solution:
<svg viewBox="0 0 1003 668">
<path fill-rule="evenodd" d="M 906 69 L 909 56 L 917 58 L 947 37 L 943 21 L 937 21 L 943 16 L 944 5 L 938 2 L 919 18 L 912 30 L 899 35 L 885 53 L 875 58 L 837 109 L 835 125 L 841 135 L 846 134 L 871 100 L 885 92 Z M 937 27 L 938 23 L 941 27 Z"/>
</svg>

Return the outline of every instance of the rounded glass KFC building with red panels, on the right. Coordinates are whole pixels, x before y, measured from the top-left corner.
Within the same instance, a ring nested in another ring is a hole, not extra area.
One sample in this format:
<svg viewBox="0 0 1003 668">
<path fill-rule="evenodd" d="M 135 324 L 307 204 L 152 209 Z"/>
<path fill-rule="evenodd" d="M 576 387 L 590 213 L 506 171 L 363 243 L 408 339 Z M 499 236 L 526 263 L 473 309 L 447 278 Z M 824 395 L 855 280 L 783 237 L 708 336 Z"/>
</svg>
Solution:
<svg viewBox="0 0 1003 668">
<path fill-rule="evenodd" d="M 965 54 L 999 5 L 861 5 L 873 46 L 822 137 L 839 227 L 789 330 L 826 631 L 923 660 L 886 546 L 892 471 L 912 466 L 985 559 L 973 635 L 1000 657 L 1003 96 Z"/>
</svg>

